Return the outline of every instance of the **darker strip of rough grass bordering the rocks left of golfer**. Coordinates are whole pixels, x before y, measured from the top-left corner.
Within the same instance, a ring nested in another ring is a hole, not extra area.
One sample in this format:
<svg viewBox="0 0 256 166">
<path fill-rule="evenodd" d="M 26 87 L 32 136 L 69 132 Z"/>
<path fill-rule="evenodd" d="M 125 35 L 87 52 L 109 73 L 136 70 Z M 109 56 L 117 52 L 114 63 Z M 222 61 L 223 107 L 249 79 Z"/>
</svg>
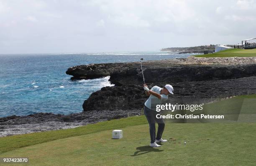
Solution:
<svg viewBox="0 0 256 166">
<path fill-rule="evenodd" d="M 121 118 L 120 120 L 110 120 L 86 126 L 65 129 L 65 130 L 52 130 L 39 133 L 29 133 L 21 135 L 12 135 L 0 138 L 0 154 L 6 151 L 11 151 L 17 148 L 31 146 L 38 143 L 49 142 L 51 140 L 58 140 L 61 138 L 74 137 L 77 135 L 84 135 L 89 133 L 96 133 L 105 130 L 115 129 L 118 125 L 119 128 L 125 128 L 133 125 L 141 125 L 147 123 L 147 120 L 140 117 Z"/>
</svg>

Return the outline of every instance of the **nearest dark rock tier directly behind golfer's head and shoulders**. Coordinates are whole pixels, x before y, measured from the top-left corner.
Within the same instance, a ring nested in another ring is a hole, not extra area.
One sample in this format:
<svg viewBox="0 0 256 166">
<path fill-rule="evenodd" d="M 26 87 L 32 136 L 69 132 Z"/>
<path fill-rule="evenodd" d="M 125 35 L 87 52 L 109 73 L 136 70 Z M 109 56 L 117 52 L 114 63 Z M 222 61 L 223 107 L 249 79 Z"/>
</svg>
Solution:
<svg viewBox="0 0 256 166">
<path fill-rule="evenodd" d="M 217 81 L 198 82 L 168 82 L 174 87 L 172 98 L 183 100 L 186 97 L 211 98 L 231 97 L 242 94 L 256 93 L 256 77 L 244 77 L 240 79 L 224 79 Z M 164 87 L 167 82 L 148 84 L 149 87 L 158 85 Z M 147 97 L 141 85 L 103 87 L 94 92 L 84 101 L 83 110 L 131 110 L 140 109 Z"/>
</svg>

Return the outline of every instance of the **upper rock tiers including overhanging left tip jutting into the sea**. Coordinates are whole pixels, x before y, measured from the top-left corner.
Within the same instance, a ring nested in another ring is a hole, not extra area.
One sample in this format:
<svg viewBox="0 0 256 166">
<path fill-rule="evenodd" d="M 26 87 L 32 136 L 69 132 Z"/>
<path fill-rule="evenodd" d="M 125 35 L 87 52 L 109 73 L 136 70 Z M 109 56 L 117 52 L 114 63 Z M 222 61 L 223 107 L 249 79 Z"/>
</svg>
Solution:
<svg viewBox="0 0 256 166">
<path fill-rule="evenodd" d="M 256 64 L 182 64 L 184 61 L 174 59 L 143 62 L 146 82 L 210 81 L 256 76 Z M 74 76 L 71 79 L 92 79 L 110 75 L 109 81 L 117 86 L 143 83 L 139 62 L 74 66 L 66 73 Z"/>
</svg>

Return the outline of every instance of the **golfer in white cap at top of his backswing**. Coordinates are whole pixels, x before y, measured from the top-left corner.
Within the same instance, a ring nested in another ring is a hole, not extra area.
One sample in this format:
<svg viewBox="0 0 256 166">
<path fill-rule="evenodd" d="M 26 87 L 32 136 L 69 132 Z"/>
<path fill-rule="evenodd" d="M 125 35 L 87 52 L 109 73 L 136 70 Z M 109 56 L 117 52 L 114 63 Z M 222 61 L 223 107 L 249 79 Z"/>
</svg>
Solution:
<svg viewBox="0 0 256 166">
<path fill-rule="evenodd" d="M 166 142 L 167 140 L 162 139 L 162 134 L 164 132 L 164 120 L 163 118 L 156 118 L 158 112 L 156 112 L 156 105 L 161 104 L 168 99 L 168 94 L 173 94 L 172 85 L 166 84 L 164 88 L 154 86 L 150 90 L 146 84 L 143 84 L 143 88 L 146 90 L 146 94 L 149 96 L 148 100 L 144 104 L 144 114 L 148 120 L 149 133 L 151 147 L 161 147 L 157 143 Z M 158 123 L 158 130 L 156 134 L 156 125 Z"/>
</svg>

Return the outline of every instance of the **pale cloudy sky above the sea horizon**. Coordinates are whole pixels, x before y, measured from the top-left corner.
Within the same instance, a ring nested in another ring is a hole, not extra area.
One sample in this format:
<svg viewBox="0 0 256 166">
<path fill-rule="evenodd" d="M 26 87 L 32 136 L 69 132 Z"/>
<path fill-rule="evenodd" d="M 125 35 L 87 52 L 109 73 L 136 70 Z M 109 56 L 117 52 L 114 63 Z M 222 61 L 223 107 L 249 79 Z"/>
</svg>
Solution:
<svg viewBox="0 0 256 166">
<path fill-rule="evenodd" d="M 0 0 L 0 54 L 237 44 L 255 29 L 256 0 Z"/>
</svg>

